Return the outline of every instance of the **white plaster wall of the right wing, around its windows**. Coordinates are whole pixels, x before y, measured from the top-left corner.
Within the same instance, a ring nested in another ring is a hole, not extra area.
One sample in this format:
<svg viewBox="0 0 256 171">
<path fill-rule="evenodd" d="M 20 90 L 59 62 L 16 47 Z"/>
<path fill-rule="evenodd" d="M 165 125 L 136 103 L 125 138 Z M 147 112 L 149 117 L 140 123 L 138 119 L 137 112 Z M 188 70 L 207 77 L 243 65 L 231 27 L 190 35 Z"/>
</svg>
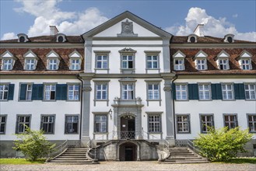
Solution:
<svg viewBox="0 0 256 171">
<path fill-rule="evenodd" d="M 255 79 L 178 79 L 177 82 L 255 82 Z M 191 120 L 191 134 L 177 134 L 177 139 L 193 139 L 198 137 L 201 133 L 199 114 L 212 113 L 214 124 L 216 128 L 224 126 L 223 113 L 237 114 L 238 126 L 242 129 L 247 129 L 247 113 L 256 113 L 256 101 L 237 99 L 237 100 L 188 100 L 188 101 L 175 101 L 176 114 L 190 114 Z M 255 138 L 256 136 L 254 136 Z"/>
</svg>

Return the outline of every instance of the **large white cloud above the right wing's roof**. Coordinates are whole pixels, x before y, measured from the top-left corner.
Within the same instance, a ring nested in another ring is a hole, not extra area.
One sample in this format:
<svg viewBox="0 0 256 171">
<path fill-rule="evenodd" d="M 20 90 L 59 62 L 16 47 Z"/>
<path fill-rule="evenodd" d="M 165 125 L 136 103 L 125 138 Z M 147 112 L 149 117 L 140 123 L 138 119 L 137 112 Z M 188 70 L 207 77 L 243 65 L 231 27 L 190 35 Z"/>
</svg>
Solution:
<svg viewBox="0 0 256 171">
<path fill-rule="evenodd" d="M 165 30 L 177 36 L 187 36 L 194 32 L 198 24 L 204 24 L 204 34 L 207 36 L 224 37 L 227 33 L 232 33 L 235 39 L 256 41 L 256 32 L 239 33 L 232 23 L 226 21 L 226 18 L 216 19 L 209 16 L 205 9 L 197 7 L 189 9 L 185 22 L 185 26 L 170 26 Z"/>
</svg>

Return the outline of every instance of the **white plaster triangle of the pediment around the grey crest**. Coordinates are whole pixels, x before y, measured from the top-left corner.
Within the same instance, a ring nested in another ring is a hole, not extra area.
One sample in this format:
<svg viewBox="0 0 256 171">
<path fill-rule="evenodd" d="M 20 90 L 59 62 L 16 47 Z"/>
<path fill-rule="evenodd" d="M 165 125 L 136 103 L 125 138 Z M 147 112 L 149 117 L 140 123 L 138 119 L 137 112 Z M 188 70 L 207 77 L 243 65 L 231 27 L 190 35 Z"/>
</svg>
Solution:
<svg viewBox="0 0 256 171">
<path fill-rule="evenodd" d="M 122 20 L 121 22 L 125 22 L 126 19 Z M 121 33 L 121 22 L 110 26 L 106 30 L 103 30 L 100 33 L 97 33 L 94 37 L 117 37 L 117 34 Z M 146 28 L 140 26 L 139 24 L 135 23 L 131 19 L 128 19 L 128 22 L 133 23 L 133 33 L 137 33 L 138 37 L 159 37 L 155 33 L 147 30 Z"/>
</svg>

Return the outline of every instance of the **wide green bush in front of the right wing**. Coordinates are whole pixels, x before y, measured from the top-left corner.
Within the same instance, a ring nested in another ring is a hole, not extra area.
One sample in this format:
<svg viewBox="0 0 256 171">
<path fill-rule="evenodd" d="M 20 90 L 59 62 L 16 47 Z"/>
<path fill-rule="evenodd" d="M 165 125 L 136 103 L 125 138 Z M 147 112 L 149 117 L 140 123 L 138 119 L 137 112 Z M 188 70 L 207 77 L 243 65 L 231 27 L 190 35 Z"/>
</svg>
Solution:
<svg viewBox="0 0 256 171">
<path fill-rule="evenodd" d="M 236 157 L 238 152 L 246 152 L 244 145 L 252 138 L 248 130 L 241 131 L 239 127 L 209 130 L 208 134 L 199 134 L 194 143 L 200 148 L 201 155 L 211 161 L 228 161 Z"/>
</svg>

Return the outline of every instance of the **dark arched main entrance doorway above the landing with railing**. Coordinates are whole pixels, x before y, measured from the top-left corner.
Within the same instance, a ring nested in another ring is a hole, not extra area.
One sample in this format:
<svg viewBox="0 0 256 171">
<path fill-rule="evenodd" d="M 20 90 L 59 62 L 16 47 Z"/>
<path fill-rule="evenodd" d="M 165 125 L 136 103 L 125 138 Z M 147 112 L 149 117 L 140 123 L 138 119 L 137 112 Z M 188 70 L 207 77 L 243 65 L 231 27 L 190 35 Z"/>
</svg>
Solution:
<svg viewBox="0 0 256 171">
<path fill-rule="evenodd" d="M 121 139 L 135 139 L 135 117 L 126 115 L 121 117 Z"/>
</svg>

